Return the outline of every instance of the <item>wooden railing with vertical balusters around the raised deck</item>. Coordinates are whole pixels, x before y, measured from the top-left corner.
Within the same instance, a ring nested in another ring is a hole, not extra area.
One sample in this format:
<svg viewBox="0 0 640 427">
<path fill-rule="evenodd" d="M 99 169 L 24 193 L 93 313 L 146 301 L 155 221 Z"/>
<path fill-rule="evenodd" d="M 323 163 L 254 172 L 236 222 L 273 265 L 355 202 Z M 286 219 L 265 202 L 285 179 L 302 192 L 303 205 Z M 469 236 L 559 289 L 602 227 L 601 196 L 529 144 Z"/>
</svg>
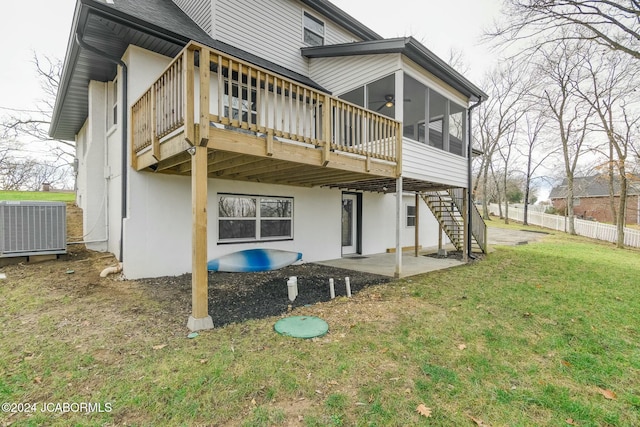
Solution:
<svg viewBox="0 0 640 427">
<path fill-rule="evenodd" d="M 198 124 L 201 141 L 217 124 L 326 153 L 401 159 L 398 121 L 191 42 L 134 103 L 132 150 L 152 146 L 158 157 L 160 140 L 182 126 L 187 140 L 200 143 L 194 141 Z"/>
</svg>

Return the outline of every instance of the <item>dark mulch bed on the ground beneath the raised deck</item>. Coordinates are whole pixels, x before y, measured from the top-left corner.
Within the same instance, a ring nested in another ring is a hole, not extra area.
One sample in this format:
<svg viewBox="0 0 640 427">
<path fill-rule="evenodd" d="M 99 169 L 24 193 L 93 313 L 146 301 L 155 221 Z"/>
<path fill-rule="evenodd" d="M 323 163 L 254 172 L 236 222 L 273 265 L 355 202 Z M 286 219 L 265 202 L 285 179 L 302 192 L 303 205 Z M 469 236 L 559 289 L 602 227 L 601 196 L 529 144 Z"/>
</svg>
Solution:
<svg viewBox="0 0 640 427">
<path fill-rule="evenodd" d="M 298 296 L 288 298 L 287 280 L 298 278 Z M 334 279 L 336 297 L 346 296 L 345 277 L 351 293 L 392 279 L 377 274 L 329 267 L 320 264 L 292 265 L 259 273 L 209 273 L 209 313 L 215 327 L 286 314 L 291 308 L 329 301 L 329 279 Z M 159 297 L 173 294 L 176 304 L 191 309 L 191 275 L 159 277 L 139 282 Z"/>
</svg>

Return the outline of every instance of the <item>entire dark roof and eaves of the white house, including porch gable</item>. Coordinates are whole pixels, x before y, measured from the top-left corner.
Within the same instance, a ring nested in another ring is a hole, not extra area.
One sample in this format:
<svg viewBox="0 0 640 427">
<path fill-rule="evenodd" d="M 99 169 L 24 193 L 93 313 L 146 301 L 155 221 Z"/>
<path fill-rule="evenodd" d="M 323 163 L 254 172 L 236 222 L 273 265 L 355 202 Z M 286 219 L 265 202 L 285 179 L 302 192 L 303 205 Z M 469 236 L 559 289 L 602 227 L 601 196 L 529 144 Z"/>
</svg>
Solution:
<svg viewBox="0 0 640 427">
<path fill-rule="evenodd" d="M 488 98 L 412 37 L 384 40 L 327 0 L 299 1 L 364 40 L 304 48 L 306 57 L 402 52 L 470 99 Z M 191 40 L 329 92 L 305 75 L 213 39 L 172 0 L 77 0 L 49 134 L 56 139 L 75 138 L 88 115 L 89 81 L 113 80 L 117 71 L 114 60 L 119 60 L 129 45 L 172 58 Z M 80 43 L 96 49 L 83 48 Z"/>
</svg>

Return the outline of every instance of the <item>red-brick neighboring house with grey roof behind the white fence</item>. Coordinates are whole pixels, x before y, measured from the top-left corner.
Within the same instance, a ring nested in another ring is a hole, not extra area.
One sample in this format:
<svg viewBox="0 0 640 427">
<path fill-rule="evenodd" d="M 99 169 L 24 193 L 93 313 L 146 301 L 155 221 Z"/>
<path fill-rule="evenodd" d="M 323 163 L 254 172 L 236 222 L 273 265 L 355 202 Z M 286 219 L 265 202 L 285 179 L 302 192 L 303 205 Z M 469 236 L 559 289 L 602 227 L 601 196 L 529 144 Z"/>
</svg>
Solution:
<svg viewBox="0 0 640 427">
<path fill-rule="evenodd" d="M 640 224 L 640 182 L 628 180 L 627 189 L 627 224 Z M 579 218 L 595 220 L 599 222 L 613 223 L 611 212 L 611 195 L 609 192 L 609 180 L 606 176 L 594 175 L 574 178 L 573 181 L 573 214 Z M 620 203 L 620 184 L 616 180 L 613 184 L 613 204 L 618 209 Z M 566 213 L 567 206 L 567 180 L 554 187 L 549 194 L 553 207 Z"/>
</svg>

